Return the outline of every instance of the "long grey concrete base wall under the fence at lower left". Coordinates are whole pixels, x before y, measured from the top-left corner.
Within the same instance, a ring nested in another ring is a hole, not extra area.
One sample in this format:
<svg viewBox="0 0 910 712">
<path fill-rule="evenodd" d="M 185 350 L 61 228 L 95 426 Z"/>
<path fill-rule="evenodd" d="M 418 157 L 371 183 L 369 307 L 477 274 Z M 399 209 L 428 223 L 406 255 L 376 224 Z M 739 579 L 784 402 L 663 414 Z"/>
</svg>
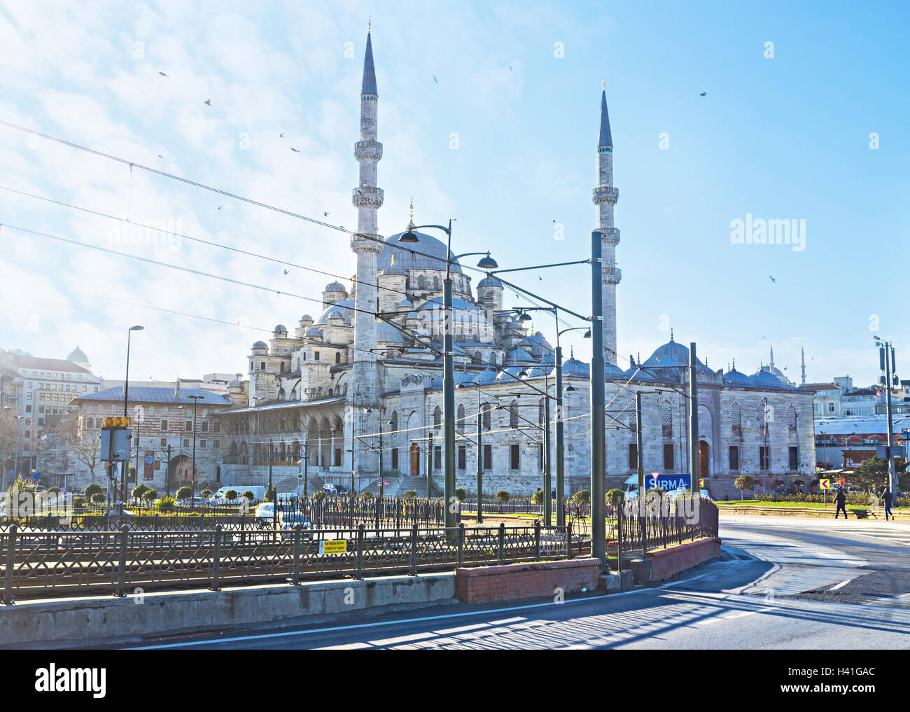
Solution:
<svg viewBox="0 0 910 712">
<path fill-rule="evenodd" d="M 221 591 L 131 593 L 0 605 L 0 646 L 164 636 L 232 626 L 301 623 L 304 616 L 426 605 L 455 597 L 455 574 L 255 585 Z M 296 619 L 296 620 L 295 620 Z"/>
</svg>

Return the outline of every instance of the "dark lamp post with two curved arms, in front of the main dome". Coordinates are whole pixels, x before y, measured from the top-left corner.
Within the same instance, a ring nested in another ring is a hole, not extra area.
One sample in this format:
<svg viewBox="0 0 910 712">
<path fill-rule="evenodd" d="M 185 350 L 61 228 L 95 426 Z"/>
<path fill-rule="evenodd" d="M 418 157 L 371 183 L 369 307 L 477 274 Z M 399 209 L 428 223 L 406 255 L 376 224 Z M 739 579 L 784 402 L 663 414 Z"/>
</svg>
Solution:
<svg viewBox="0 0 910 712">
<path fill-rule="evenodd" d="M 416 243 L 420 238 L 414 234 L 416 229 L 433 228 L 440 229 L 446 233 L 449 238 L 449 247 L 446 252 L 446 279 L 443 282 L 442 290 L 442 310 L 443 310 L 443 378 L 442 378 L 442 398 L 443 398 L 443 431 L 442 445 L 444 453 L 443 462 L 443 482 L 444 486 L 444 511 L 445 526 L 447 529 L 455 526 L 455 513 L 452 511 L 450 504 L 455 496 L 455 373 L 452 361 L 452 279 L 451 263 L 453 259 L 468 257 L 470 255 L 486 255 L 480 259 L 477 266 L 482 270 L 495 270 L 499 265 L 495 259 L 490 258 L 490 252 L 465 252 L 454 258 L 451 256 L 452 247 L 452 221 L 449 220 L 449 227 L 442 225 L 409 225 L 408 231 L 399 237 L 399 242 Z"/>
</svg>

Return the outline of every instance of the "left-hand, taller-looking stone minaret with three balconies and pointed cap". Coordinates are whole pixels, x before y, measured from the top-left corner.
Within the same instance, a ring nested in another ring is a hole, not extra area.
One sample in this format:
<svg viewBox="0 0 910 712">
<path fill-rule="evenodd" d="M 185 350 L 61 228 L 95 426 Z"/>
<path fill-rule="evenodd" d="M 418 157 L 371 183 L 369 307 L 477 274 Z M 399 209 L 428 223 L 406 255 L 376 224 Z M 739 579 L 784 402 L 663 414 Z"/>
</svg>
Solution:
<svg viewBox="0 0 910 712">
<path fill-rule="evenodd" d="M 382 251 L 378 233 L 377 211 L 382 206 L 382 190 L 376 187 L 376 167 L 382 158 L 382 144 L 376 140 L 376 109 L 379 95 L 376 89 L 376 68 L 373 66 L 373 45 L 367 28 L 367 51 L 363 58 L 363 85 L 360 90 L 360 140 L 354 144 L 354 158 L 359 164 L 358 188 L 354 188 L 351 202 L 357 208 L 357 231 L 369 238 L 351 236 L 350 249 L 357 255 L 357 292 L 354 296 L 354 357 L 351 373 L 352 387 L 348 391 L 351 419 L 358 434 L 375 432 L 379 422 L 379 367 L 377 365 L 376 320 L 370 313 L 378 310 L 376 298 L 377 256 Z M 362 418 L 360 414 L 373 406 L 373 412 Z M 355 422 L 356 419 L 356 422 Z M 362 454 L 362 453 L 361 453 Z M 375 472 L 375 463 L 361 462 L 366 472 Z"/>
</svg>

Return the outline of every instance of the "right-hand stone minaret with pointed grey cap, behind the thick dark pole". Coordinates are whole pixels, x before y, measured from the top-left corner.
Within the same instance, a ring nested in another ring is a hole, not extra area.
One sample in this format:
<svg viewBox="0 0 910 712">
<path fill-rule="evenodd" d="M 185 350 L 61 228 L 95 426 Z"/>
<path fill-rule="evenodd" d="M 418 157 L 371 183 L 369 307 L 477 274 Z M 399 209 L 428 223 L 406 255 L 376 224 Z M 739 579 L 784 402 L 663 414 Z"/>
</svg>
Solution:
<svg viewBox="0 0 910 712">
<path fill-rule="evenodd" d="M 601 86 L 601 134 L 597 142 L 597 188 L 594 188 L 594 205 L 597 206 L 597 229 L 602 233 L 603 246 L 603 362 L 616 363 L 616 285 L 622 272 L 616 267 L 616 246 L 620 243 L 620 230 L 613 227 L 613 206 L 620 191 L 613 188 L 613 137 L 610 133 L 610 115 L 607 113 L 606 82 Z"/>
</svg>

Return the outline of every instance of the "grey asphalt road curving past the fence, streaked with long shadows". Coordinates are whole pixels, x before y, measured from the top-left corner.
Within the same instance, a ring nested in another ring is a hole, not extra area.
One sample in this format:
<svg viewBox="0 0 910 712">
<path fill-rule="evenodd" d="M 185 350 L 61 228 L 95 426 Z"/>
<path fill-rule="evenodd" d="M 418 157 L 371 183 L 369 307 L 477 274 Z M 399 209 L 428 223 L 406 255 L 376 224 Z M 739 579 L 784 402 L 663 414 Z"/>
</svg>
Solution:
<svg viewBox="0 0 910 712">
<path fill-rule="evenodd" d="M 169 648 L 908 648 L 910 527 L 722 522 L 678 580 L 561 604 L 437 605 L 327 624 L 148 640 Z"/>
</svg>

